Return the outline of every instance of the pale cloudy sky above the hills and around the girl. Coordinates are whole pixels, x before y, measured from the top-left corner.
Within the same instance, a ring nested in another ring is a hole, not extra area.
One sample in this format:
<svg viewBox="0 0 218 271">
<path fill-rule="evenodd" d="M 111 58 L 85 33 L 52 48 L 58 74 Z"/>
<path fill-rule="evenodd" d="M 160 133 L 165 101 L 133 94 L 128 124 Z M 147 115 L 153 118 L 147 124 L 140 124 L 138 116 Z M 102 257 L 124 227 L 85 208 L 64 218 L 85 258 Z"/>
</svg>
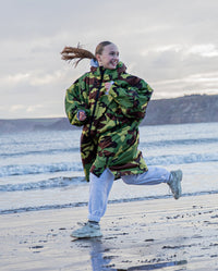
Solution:
<svg viewBox="0 0 218 271">
<path fill-rule="evenodd" d="M 0 0 L 0 119 L 65 116 L 65 89 L 89 70 L 64 46 L 113 41 L 153 99 L 218 94 L 217 0 Z"/>
</svg>

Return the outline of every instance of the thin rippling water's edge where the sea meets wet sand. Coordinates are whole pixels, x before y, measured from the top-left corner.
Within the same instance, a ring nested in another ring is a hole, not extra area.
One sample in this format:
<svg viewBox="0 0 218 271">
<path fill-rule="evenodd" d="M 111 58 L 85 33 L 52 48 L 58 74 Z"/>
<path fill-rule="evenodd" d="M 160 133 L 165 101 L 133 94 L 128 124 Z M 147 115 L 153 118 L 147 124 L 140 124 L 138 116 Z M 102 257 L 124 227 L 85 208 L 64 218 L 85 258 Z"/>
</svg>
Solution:
<svg viewBox="0 0 218 271">
<path fill-rule="evenodd" d="M 203 195 L 211 195 L 218 194 L 218 190 L 204 190 L 196 193 L 186 193 L 183 194 L 182 197 L 193 197 L 193 196 L 203 196 Z M 136 197 L 136 198 L 121 198 L 109 200 L 108 204 L 122 204 L 122 202 L 132 202 L 132 201 L 143 201 L 143 200 L 154 200 L 154 199 L 165 199 L 170 198 L 171 195 L 157 195 L 157 196 L 148 196 L 148 197 Z M 64 209 L 64 208 L 75 208 L 87 206 L 88 202 L 72 202 L 72 204 L 60 204 L 60 205 L 45 205 L 45 206 L 35 206 L 35 207 L 21 207 L 14 209 L 5 209 L 0 210 L 0 214 L 10 214 L 10 213 L 21 213 L 21 212 L 29 212 L 29 211 L 43 211 L 43 210 L 53 210 L 53 209 Z"/>
</svg>

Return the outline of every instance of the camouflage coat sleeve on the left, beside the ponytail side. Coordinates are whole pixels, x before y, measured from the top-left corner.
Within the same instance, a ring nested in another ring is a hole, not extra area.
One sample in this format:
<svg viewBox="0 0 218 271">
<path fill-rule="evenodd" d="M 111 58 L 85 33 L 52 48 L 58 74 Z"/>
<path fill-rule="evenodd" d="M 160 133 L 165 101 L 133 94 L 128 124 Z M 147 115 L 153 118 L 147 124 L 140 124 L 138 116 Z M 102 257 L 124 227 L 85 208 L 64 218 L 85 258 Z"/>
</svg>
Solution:
<svg viewBox="0 0 218 271">
<path fill-rule="evenodd" d="M 85 121 L 80 121 L 77 118 L 81 110 L 86 113 L 87 118 Z M 65 113 L 72 125 L 82 126 L 88 122 L 88 96 L 85 88 L 85 82 L 81 78 L 66 89 Z"/>
</svg>

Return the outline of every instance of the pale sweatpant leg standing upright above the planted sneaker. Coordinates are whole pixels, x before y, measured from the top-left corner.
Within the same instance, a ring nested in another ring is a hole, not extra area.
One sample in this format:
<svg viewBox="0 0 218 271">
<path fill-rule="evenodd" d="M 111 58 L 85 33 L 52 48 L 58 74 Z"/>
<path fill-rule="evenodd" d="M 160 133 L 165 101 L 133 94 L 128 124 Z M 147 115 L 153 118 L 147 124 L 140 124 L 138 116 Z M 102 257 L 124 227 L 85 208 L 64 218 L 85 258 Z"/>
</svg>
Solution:
<svg viewBox="0 0 218 271">
<path fill-rule="evenodd" d="M 88 220 L 99 222 L 105 214 L 114 176 L 106 169 L 100 177 L 90 173 Z"/>
</svg>

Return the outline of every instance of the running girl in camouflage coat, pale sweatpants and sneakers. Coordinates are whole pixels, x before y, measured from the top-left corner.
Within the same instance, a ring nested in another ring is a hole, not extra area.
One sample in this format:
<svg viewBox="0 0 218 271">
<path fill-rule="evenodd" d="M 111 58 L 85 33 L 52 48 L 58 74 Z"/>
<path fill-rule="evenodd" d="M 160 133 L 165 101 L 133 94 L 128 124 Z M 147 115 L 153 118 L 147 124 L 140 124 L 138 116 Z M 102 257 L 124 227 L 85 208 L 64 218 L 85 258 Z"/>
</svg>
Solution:
<svg viewBox="0 0 218 271">
<path fill-rule="evenodd" d="M 66 90 L 65 112 L 72 125 L 83 126 L 81 156 L 89 181 L 88 221 L 71 236 L 101 236 L 99 221 L 105 214 L 113 181 L 126 184 L 167 183 L 175 199 L 181 196 L 182 171 L 147 168 L 138 150 L 138 125 L 146 113 L 153 89 L 126 73 L 118 47 L 100 42 L 95 54 L 80 47 L 65 47 L 63 60 L 77 63 L 90 59 L 90 71 Z"/>
</svg>

